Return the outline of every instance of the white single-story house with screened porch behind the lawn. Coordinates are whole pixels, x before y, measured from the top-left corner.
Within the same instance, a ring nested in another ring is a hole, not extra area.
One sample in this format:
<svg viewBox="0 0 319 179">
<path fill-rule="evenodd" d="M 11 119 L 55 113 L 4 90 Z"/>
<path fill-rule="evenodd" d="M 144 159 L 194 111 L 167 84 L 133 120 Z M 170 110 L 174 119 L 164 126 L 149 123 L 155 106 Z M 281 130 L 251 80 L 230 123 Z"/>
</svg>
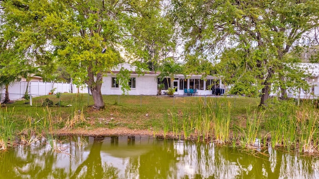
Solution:
<svg viewBox="0 0 319 179">
<path fill-rule="evenodd" d="M 157 95 L 158 84 L 165 85 L 163 91 L 167 90 L 170 86 L 170 78 L 160 81 L 158 78 L 159 73 L 154 71 L 144 71 L 139 74 L 136 70 L 137 67 L 128 63 L 119 64 L 106 77 L 103 77 L 103 84 L 101 93 L 103 95 L 120 95 L 123 94 L 120 83 L 116 80 L 117 74 L 120 69 L 124 68 L 130 71 L 131 79 L 129 86 L 131 90 L 128 91 L 129 95 Z M 167 85 L 168 81 L 168 85 Z M 215 76 L 206 76 L 202 79 L 201 75 L 174 75 L 172 87 L 177 88 L 174 95 L 184 95 L 184 89 L 197 89 L 198 95 L 212 95 L 212 88 L 222 88 L 222 81 Z"/>
</svg>

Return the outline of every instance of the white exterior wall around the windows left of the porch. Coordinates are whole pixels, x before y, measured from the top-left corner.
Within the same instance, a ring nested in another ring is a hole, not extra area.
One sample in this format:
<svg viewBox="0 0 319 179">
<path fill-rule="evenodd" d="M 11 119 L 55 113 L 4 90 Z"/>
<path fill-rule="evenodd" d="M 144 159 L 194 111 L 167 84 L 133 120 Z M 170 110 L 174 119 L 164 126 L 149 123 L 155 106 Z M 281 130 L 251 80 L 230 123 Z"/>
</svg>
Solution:
<svg viewBox="0 0 319 179">
<path fill-rule="evenodd" d="M 116 75 L 108 75 L 103 77 L 103 84 L 101 88 L 101 93 L 103 95 L 121 95 L 123 91 L 121 90 L 121 85 L 118 88 L 111 88 L 112 77 Z M 157 95 L 158 83 L 156 75 L 131 75 L 132 78 L 136 78 L 136 88 L 131 88 L 128 92 L 129 95 Z"/>
</svg>

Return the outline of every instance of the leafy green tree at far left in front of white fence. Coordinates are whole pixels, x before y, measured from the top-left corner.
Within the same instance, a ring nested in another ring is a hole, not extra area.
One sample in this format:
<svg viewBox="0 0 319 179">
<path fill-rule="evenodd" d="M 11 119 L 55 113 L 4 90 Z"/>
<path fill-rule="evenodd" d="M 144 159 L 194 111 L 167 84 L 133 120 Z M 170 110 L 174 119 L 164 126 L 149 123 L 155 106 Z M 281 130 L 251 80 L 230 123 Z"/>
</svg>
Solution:
<svg viewBox="0 0 319 179">
<path fill-rule="evenodd" d="M 39 8 L 39 4 L 33 8 Z M 45 4 L 41 5 L 45 7 Z M 26 3 L 0 1 L 0 83 L 6 88 L 5 102 L 9 101 L 10 83 L 21 77 L 29 80 L 39 70 L 48 73 L 54 66 L 45 34 L 38 26 L 38 18 Z M 27 92 L 26 88 L 25 96 Z"/>
</svg>

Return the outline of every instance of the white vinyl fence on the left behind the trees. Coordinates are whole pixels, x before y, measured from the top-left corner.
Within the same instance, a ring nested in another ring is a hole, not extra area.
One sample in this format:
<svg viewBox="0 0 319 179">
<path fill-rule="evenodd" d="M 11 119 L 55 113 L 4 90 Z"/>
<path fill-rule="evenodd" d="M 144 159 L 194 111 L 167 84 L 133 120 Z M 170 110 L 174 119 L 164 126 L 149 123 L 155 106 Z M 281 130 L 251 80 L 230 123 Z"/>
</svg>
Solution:
<svg viewBox="0 0 319 179">
<path fill-rule="evenodd" d="M 15 82 L 8 88 L 10 100 L 18 100 L 23 98 L 27 87 L 26 81 Z M 70 83 L 52 83 L 52 82 L 29 82 L 28 94 L 32 97 L 48 95 L 52 89 L 55 89 L 53 94 L 57 92 L 71 93 Z M 53 90 L 52 90 L 53 91 Z M 73 84 L 73 93 L 88 93 L 87 86 L 77 88 Z M 0 102 L 4 101 L 5 88 L 0 88 Z"/>
</svg>

